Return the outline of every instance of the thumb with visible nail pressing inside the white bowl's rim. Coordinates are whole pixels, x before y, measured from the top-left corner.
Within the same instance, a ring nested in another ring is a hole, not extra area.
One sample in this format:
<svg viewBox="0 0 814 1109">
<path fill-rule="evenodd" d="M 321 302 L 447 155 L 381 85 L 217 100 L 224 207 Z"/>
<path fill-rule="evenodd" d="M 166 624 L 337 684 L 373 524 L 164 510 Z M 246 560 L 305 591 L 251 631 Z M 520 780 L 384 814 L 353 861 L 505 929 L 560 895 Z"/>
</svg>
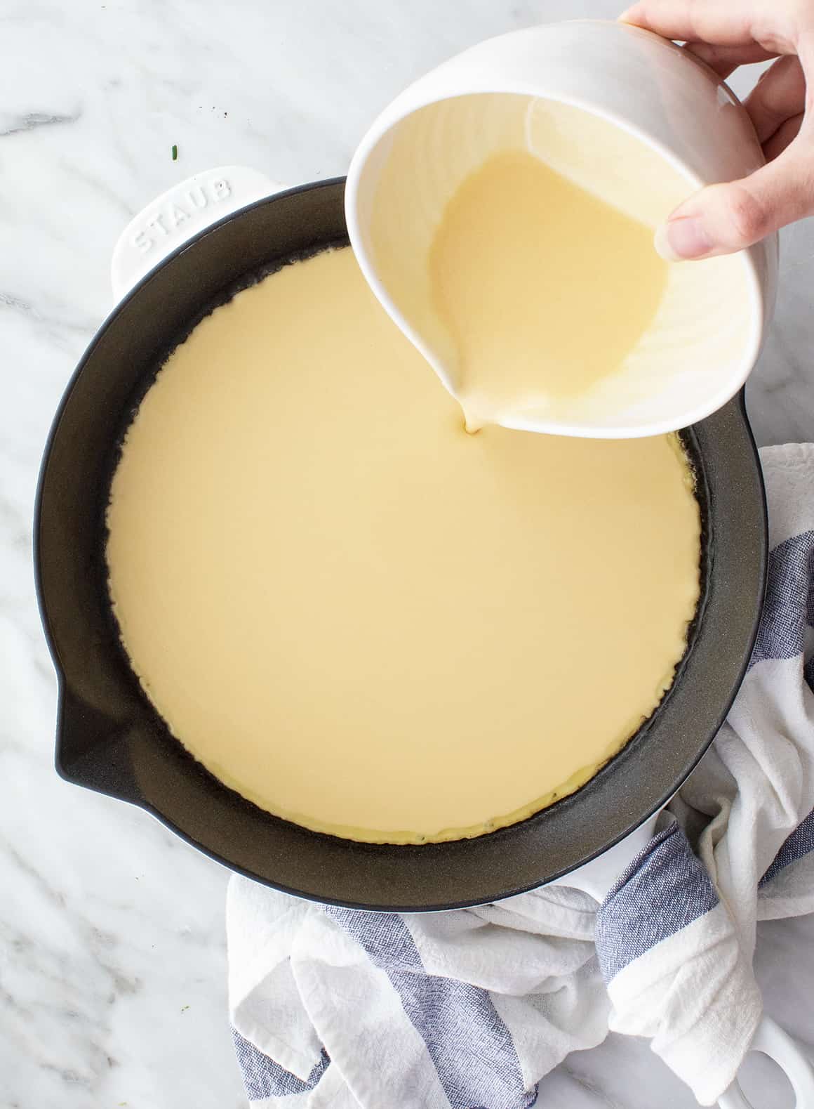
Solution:
<svg viewBox="0 0 814 1109">
<path fill-rule="evenodd" d="M 800 143 L 801 136 L 750 176 L 708 185 L 680 204 L 656 232 L 662 258 L 731 254 L 814 214 L 814 159 Z"/>
</svg>

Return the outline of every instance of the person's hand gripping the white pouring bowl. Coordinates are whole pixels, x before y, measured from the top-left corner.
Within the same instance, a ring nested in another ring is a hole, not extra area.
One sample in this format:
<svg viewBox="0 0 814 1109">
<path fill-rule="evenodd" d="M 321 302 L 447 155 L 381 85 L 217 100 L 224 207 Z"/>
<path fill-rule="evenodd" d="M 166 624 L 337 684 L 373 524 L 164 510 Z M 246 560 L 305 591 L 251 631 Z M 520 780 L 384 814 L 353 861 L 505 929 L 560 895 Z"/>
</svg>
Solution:
<svg viewBox="0 0 814 1109">
<path fill-rule="evenodd" d="M 767 164 L 680 204 L 656 233 L 658 252 L 730 254 L 814 215 L 814 0 L 640 0 L 620 19 L 684 41 L 722 78 L 776 59 L 744 101 Z"/>
</svg>

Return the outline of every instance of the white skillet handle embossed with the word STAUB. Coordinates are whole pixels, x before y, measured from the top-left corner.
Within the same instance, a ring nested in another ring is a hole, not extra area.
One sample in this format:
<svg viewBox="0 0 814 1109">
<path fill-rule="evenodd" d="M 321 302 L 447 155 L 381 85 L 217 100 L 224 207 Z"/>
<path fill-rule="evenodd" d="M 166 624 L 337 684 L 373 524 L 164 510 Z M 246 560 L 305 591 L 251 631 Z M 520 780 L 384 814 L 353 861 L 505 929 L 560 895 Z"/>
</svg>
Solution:
<svg viewBox="0 0 814 1109">
<path fill-rule="evenodd" d="M 204 170 L 173 185 L 131 220 L 119 236 L 111 262 L 116 301 L 193 235 L 285 187 L 244 165 Z"/>
</svg>

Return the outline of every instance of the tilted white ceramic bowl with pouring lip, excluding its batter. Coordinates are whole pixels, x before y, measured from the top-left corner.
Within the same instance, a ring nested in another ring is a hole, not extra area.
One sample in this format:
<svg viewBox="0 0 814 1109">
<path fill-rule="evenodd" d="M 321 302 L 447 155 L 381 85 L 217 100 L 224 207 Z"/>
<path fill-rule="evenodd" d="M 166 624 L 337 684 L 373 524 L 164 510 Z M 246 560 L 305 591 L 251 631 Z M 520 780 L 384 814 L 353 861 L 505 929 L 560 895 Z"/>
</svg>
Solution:
<svg viewBox="0 0 814 1109">
<path fill-rule="evenodd" d="M 561 170 L 558 160 L 574 157 L 573 136 L 570 154 L 564 153 L 564 128 L 574 121 L 583 129 L 583 154 L 566 172 L 577 183 L 590 179 L 611 203 L 624 206 L 627 197 L 638 206 L 632 214 L 653 230 L 700 186 L 763 164 L 751 122 L 729 88 L 673 43 L 624 23 L 580 20 L 516 31 L 421 78 L 382 112 L 357 150 L 346 214 L 375 295 L 453 393 L 451 340 L 430 303 L 426 254 L 457 185 L 505 145 L 506 128 L 516 123 L 506 115 L 513 104 L 523 112 L 526 147 L 555 169 Z M 605 145 L 612 135 L 614 157 L 606 152 L 591 176 L 597 129 Z M 663 318 L 646 333 L 629 372 L 612 375 L 570 408 L 499 423 L 620 438 L 702 419 L 741 388 L 754 366 L 776 271 L 776 236 L 734 256 L 673 264 Z"/>
</svg>

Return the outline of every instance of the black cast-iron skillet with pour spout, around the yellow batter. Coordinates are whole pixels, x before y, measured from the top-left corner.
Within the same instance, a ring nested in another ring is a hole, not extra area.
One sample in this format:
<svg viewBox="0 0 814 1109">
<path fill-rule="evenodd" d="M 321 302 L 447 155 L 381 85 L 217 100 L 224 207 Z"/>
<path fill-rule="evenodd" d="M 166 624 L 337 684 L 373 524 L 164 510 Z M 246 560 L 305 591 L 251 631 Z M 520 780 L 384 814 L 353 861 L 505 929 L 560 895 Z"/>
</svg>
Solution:
<svg viewBox="0 0 814 1109">
<path fill-rule="evenodd" d="M 76 369 L 45 451 L 35 522 L 42 619 L 60 679 L 56 769 L 70 782 L 140 805 L 213 858 L 290 893 L 367 908 L 472 905 L 589 861 L 663 805 L 701 757 L 756 632 L 766 554 L 761 471 L 742 396 L 686 433 L 704 525 L 703 598 L 690 647 L 651 720 L 576 794 L 513 827 L 426 846 L 352 843 L 244 801 L 168 734 L 127 665 L 105 586 L 107 482 L 140 384 L 235 283 L 276 260 L 342 241 L 342 193 L 341 180 L 305 185 L 209 227 L 116 307 Z M 612 650 L 612 642 L 586 649 L 588 691 Z"/>
</svg>

